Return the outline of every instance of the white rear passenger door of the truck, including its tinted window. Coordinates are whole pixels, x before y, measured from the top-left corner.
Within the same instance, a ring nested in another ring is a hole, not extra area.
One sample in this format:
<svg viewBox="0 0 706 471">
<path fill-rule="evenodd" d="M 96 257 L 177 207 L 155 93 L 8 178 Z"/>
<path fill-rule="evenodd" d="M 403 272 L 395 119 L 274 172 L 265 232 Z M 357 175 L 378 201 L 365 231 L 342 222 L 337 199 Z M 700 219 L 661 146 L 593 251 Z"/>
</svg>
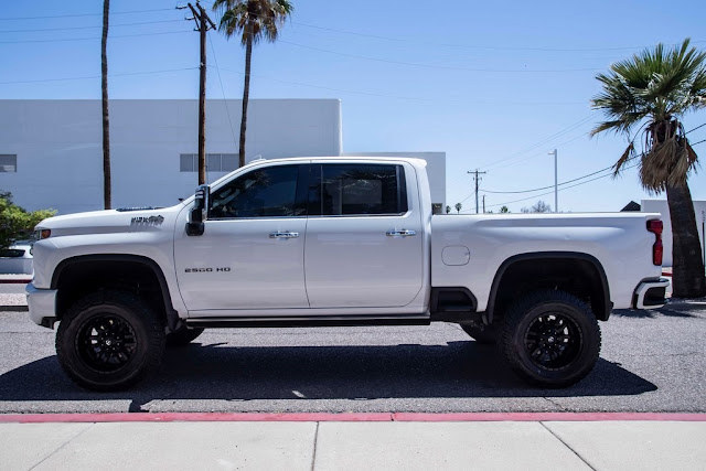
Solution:
<svg viewBox="0 0 706 471">
<path fill-rule="evenodd" d="M 408 164 L 312 165 L 304 244 L 311 308 L 413 301 L 424 276 L 421 216 L 408 202 L 413 191 L 416 178 Z"/>
</svg>

